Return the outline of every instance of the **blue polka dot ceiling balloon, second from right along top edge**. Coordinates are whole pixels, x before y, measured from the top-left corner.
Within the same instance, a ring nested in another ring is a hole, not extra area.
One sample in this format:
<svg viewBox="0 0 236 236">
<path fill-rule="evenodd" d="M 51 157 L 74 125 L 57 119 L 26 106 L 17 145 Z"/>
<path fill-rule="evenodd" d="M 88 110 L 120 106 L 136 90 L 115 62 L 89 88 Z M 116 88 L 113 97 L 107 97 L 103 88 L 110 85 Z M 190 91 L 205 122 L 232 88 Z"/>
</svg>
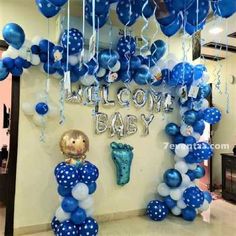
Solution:
<svg viewBox="0 0 236 236">
<path fill-rule="evenodd" d="M 209 10 L 210 4 L 208 0 L 194 0 L 187 10 L 187 22 L 193 26 L 201 24 L 206 20 Z"/>
</svg>

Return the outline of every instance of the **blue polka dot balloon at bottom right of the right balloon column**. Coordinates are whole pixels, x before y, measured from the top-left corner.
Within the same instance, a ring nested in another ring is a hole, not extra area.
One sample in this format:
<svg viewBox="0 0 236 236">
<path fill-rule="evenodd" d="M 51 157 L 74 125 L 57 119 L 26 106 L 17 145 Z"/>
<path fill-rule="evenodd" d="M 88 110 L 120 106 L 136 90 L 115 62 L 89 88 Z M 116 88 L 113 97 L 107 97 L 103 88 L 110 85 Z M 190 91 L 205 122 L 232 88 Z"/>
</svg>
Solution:
<svg viewBox="0 0 236 236">
<path fill-rule="evenodd" d="M 204 194 L 198 187 L 190 187 L 184 191 L 183 200 L 187 206 L 199 208 L 204 202 Z"/>
</svg>

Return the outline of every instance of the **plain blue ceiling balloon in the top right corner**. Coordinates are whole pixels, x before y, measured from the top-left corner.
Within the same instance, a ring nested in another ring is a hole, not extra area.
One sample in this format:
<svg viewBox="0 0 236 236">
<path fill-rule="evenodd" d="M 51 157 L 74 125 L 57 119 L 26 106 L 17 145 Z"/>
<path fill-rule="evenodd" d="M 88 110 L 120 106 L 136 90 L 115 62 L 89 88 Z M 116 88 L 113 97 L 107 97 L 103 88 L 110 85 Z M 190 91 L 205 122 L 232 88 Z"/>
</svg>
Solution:
<svg viewBox="0 0 236 236">
<path fill-rule="evenodd" d="M 232 0 L 215 0 L 211 2 L 211 7 L 215 14 L 224 18 L 236 12 L 236 2 Z"/>
</svg>

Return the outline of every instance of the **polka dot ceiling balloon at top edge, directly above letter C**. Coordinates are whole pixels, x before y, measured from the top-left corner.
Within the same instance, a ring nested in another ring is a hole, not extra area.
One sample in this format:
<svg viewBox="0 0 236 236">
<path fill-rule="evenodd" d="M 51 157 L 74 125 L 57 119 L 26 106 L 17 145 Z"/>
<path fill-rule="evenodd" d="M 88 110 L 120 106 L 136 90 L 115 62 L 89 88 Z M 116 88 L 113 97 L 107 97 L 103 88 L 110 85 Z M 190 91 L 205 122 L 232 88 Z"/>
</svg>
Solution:
<svg viewBox="0 0 236 236">
<path fill-rule="evenodd" d="M 139 17 L 139 14 L 134 11 L 131 2 L 127 2 L 126 0 L 118 2 L 116 13 L 121 23 L 126 26 L 133 25 Z"/>
</svg>

